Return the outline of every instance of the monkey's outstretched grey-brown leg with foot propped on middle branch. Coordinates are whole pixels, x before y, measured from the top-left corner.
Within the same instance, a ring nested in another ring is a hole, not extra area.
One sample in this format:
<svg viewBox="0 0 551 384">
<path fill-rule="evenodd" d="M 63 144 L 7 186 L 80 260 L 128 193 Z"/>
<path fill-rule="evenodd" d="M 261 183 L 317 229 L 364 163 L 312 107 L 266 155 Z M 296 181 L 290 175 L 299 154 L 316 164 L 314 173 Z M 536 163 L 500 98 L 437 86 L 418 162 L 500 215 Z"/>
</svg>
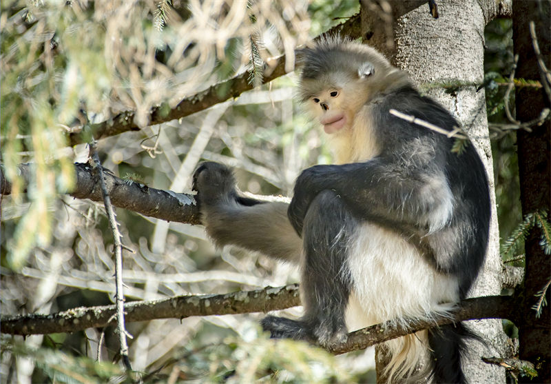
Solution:
<svg viewBox="0 0 551 384">
<path fill-rule="evenodd" d="M 289 204 L 240 196 L 231 170 L 202 163 L 194 174 L 201 221 L 216 245 L 233 244 L 298 263 L 302 241 L 287 219 Z"/>
</svg>

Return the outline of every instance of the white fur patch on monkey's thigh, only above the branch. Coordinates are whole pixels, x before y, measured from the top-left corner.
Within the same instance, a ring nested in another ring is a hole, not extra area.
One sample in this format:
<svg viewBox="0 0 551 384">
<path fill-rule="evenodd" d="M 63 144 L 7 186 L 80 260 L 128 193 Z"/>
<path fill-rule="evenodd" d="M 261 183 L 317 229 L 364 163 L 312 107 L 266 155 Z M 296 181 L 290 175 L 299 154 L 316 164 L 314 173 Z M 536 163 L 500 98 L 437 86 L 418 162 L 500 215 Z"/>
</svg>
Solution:
<svg viewBox="0 0 551 384">
<path fill-rule="evenodd" d="M 428 265 L 402 236 L 372 223 L 363 223 L 357 233 L 350 245 L 355 287 L 350 309 L 357 303 L 363 316 L 350 319 L 350 330 L 387 320 L 399 322 L 404 316 L 426 319 L 435 312 L 448 312 L 450 303 L 457 302 L 457 279 Z M 362 323 L 353 324 L 358 320 Z"/>
</svg>

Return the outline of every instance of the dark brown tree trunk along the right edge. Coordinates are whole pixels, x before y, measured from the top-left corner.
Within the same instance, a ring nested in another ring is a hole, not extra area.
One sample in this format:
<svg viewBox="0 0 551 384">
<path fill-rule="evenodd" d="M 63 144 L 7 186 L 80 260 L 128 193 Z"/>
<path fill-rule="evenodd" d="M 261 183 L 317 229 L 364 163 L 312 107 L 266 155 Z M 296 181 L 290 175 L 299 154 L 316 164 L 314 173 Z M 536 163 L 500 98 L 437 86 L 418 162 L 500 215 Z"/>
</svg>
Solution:
<svg viewBox="0 0 551 384">
<path fill-rule="evenodd" d="M 519 55 L 516 77 L 541 81 L 541 71 L 530 36 L 530 21 L 534 21 L 539 48 L 545 65 L 551 67 L 551 3 L 548 1 L 513 1 L 514 53 Z M 550 100 L 542 90 L 520 88 L 516 94 L 517 120 L 537 119 Z M 522 213 L 551 210 L 551 121 L 533 132 L 517 134 Z M 551 315 L 550 306 L 543 307 L 539 318 L 532 310 L 534 296 L 551 278 L 551 257 L 539 245 L 539 228 L 530 231 L 526 239 L 526 274 L 519 324 L 520 358 L 540 365 L 537 383 L 551 383 Z M 548 302 L 551 294 L 547 292 Z M 521 382 L 530 382 L 521 378 Z"/>
</svg>

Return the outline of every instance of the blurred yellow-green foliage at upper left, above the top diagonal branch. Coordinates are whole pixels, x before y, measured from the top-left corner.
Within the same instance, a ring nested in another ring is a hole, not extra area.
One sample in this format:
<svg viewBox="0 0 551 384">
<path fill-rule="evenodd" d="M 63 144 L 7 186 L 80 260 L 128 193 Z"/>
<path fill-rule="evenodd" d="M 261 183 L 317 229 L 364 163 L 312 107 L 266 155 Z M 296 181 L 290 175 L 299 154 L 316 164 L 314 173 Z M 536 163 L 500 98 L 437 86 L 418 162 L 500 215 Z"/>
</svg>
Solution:
<svg viewBox="0 0 551 384">
<path fill-rule="evenodd" d="M 30 206 L 3 243 L 3 265 L 19 269 L 35 246 L 50 245 L 48 208 L 74 185 L 67 132 L 124 110 L 136 111 L 135 122 L 145 127 L 153 106 L 163 116 L 183 97 L 233 75 L 245 63 L 236 48 L 258 28 L 273 23 L 275 40 L 283 32 L 296 43 L 307 37 L 295 28 L 308 19 L 305 6 L 286 19 L 278 1 L 237 2 L 232 12 L 202 3 L 178 7 L 170 0 L 2 1 L 1 161 L 12 182 L 10 203 Z M 31 163 L 26 193 L 20 163 Z"/>
</svg>

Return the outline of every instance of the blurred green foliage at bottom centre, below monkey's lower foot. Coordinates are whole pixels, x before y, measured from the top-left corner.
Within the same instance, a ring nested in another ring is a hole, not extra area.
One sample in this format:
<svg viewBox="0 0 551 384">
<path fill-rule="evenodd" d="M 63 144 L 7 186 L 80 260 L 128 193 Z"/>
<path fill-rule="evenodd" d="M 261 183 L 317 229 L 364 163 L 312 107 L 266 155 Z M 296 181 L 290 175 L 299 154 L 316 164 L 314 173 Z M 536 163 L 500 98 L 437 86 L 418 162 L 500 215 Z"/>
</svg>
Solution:
<svg viewBox="0 0 551 384">
<path fill-rule="evenodd" d="M 189 347 L 171 359 L 190 379 L 209 383 L 350 383 L 335 356 L 311 345 L 268 339 L 250 330 L 218 345 Z"/>
</svg>

